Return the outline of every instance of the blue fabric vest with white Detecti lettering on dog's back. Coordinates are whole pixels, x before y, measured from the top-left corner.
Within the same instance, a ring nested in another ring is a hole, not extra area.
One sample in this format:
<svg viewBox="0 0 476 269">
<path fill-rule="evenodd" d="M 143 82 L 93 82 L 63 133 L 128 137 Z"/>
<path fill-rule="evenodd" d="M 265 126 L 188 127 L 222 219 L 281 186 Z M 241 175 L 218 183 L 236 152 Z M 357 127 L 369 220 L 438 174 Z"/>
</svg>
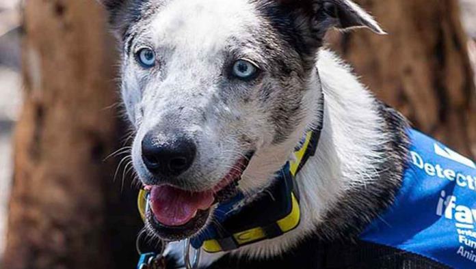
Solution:
<svg viewBox="0 0 476 269">
<path fill-rule="evenodd" d="M 409 134 L 403 186 L 360 238 L 453 268 L 476 268 L 475 163 L 420 132 Z"/>
</svg>

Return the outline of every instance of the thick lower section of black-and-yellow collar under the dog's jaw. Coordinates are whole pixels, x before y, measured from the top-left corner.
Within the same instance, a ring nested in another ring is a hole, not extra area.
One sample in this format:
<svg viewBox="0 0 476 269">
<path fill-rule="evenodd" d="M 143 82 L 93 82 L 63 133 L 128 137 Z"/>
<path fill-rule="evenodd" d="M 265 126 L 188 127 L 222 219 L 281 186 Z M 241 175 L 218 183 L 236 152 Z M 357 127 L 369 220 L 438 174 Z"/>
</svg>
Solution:
<svg viewBox="0 0 476 269">
<path fill-rule="evenodd" d="M 231 201 L 230 205 L 219 205 L 214 218 L 220 227 L 211 223 L 191 240 L 192 246 L 196 249 L 202 247 L 209 253 L 232 251 L 291 231 L 300 222 L 299 197 L 294 192 L 293 181 L 287 164 L 280 170 L 272 186 L 251 203 L 228 211 L 226 208 L 237 206 L 242 200 Z M 220 216 L 221 212 L 224 212 L 224 216 Z"/>
</svg>

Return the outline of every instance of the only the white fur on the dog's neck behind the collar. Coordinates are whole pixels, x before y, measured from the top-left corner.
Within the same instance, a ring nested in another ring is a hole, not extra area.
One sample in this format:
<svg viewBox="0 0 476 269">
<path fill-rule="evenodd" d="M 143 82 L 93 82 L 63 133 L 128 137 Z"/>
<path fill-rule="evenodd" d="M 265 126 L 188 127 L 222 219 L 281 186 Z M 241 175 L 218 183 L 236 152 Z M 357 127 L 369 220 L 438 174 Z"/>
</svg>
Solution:
<svg viewBox="0 0 476 269">
<path fill-rule="evenodd" d="M 326 103 L 317 153 L 297 175 L 301 193 L 301 223 L 284 236 L 244 246 L 235 251 L 235 255 L 263 258 L 287 251 L 313 234 L 316 225 L 321 223 L 323 212 L 332 203 L 339 201 L 352 188 L 376 178 L 369 171 L 375 167 L 375 162 L 384 162 L 385 156 L 378 152 L 376 146 L 387 143 L 388 138 L 380 131 L 384 123 L 376 112 L 374 98 L 330 51 L 320 51 L 317 67 Z M 316 104 L 319 91 L 311 89 L 306 98 Z M 309 109 L 313 111 L 313 107 Z M 315 120 L 308 122 L 308 127 Z M 169 244 L 166 253 L 183 260 L 183 242 Z M 200 265 L 207 266 L 222 255 L 224 253 L 203 253 Z"/>
</svg>

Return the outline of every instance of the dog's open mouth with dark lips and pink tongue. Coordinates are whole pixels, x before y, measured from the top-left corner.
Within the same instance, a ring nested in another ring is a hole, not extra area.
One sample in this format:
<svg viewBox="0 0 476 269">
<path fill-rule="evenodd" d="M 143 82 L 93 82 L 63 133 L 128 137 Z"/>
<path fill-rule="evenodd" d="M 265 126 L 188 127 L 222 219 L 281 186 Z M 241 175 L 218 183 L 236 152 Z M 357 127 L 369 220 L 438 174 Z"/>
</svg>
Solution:
<svg viewBox="0 0 476 269">
<path fill-rule="evenodd" d="M 175 186 L 146 186 L 148 224 L 163 239 L 180 240 L 197 233 L 207 223 L 211 208 L 235 197 L 237 182 L 248 167 L 252 154 L 241 158 L 213 188 L 189 192 Z"/>
</svg>

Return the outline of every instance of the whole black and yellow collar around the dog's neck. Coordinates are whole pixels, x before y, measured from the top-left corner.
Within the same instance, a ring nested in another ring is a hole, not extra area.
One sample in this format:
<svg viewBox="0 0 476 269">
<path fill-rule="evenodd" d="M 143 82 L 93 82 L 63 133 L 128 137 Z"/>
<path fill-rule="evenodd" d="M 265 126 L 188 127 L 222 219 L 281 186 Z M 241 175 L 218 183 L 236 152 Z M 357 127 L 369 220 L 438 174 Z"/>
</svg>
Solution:
<svg viewBox="0 0 476 269">
<path fill-rule="evenodd" d="M 295 159 L 286 163 L 276 173 L 274 182 L 250 203 L 239 193 L 214 210 L 213 223 L 200 235 L 189 240 L 194 249 L 208 253 L 232 251 L 241 246 L 282 236 L 295 229 L 300 223 L 300 194 L 295 182 L 310 156 L 315 154 L 320 130 L 310 130 L 300 141 L 294 154 Z M 146 191 L 141 190 L 137 200 L 139 212 L 144 218 L 147 206 Z M 217 227 L 220 225 L 220 227 Z M 143 255 L 141 262 L 155 253 Z M 140 266 L 140 265 L 139 265 Z M 139 268 L 138 266 L 138 268 Z"/>
</svg>

